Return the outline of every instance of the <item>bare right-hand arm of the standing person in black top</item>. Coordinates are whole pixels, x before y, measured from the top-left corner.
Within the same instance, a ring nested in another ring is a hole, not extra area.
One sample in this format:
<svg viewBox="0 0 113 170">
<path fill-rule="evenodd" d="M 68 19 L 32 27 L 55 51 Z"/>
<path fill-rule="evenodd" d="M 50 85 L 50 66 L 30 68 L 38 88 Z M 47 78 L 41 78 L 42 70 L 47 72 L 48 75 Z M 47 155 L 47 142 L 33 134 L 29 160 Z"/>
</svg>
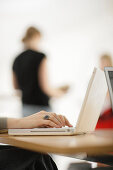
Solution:
<svg viewBox="0 0 113 170">
<path fill-rule="evenodd" d="M 39 84 L 43 92 L 47 94 L 49 97 L 61 97 L 64 95 L 69 86 L 63 86 L 59 88 L 52 88 L 49 84 L 48 80 L 48 70 L 47 70 L 47 59 L 44 58 L 40 64 L 39 68 L 39 73 L 38 73 L 38 78 L 39 78 Z"/>
</svg>

